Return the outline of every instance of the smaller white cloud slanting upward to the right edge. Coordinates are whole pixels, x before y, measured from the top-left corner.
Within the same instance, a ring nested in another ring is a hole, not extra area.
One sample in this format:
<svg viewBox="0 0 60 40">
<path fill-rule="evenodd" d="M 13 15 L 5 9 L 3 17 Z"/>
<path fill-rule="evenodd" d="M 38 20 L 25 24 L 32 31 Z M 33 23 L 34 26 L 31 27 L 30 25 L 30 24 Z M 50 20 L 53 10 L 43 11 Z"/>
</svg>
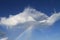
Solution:
<svg viewBox="0 0 60 40">
<path fill-rule="evenodd" d="M 52 16 L 48 18 L 47 23 L 52 25 L 58 20 L 60 20 L 60 13 L 54 13 Z"/>
</svg>

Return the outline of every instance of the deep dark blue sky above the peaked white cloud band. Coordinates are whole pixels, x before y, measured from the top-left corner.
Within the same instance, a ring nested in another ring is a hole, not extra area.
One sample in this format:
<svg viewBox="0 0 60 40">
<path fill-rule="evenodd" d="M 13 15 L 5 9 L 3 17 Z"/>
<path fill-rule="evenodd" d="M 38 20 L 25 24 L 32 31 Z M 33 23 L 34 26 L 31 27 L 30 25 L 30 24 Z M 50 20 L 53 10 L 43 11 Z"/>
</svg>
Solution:
<svg viewBox="0 0 60 40">
<path fill-rule="evenodd" d="M 57 12 L 60 11 L 59 3 L 60 0 L 0 0 L 0 16 L 15 15 L 27 6 L 51 15 L 54 8 Z"/>
</svg>

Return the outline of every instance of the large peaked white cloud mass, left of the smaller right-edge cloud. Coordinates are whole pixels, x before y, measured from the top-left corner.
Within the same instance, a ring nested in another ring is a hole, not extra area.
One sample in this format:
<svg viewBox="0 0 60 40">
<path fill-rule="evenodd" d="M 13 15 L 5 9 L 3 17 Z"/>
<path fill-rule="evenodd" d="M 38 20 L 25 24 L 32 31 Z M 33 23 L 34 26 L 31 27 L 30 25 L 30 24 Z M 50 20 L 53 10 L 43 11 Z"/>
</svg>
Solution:
<svg viewBox="0 0 60 40">
<path fill-rule="evenodd" d="M 19 23 L 24 23 L 28 21 L 44 20 L 44 19 L 47 19 L 47 17 L 48 16 L 45 15 L 44 13 L 41 13 L 35 9 L 26 8 L 23 12 L 17 15 L 10 16 L 9 18 L 2 17 L 0 24 L 4 24 L 7 26 L 13 26 L 13 25 L 17 25 Z"/>
</svg>

